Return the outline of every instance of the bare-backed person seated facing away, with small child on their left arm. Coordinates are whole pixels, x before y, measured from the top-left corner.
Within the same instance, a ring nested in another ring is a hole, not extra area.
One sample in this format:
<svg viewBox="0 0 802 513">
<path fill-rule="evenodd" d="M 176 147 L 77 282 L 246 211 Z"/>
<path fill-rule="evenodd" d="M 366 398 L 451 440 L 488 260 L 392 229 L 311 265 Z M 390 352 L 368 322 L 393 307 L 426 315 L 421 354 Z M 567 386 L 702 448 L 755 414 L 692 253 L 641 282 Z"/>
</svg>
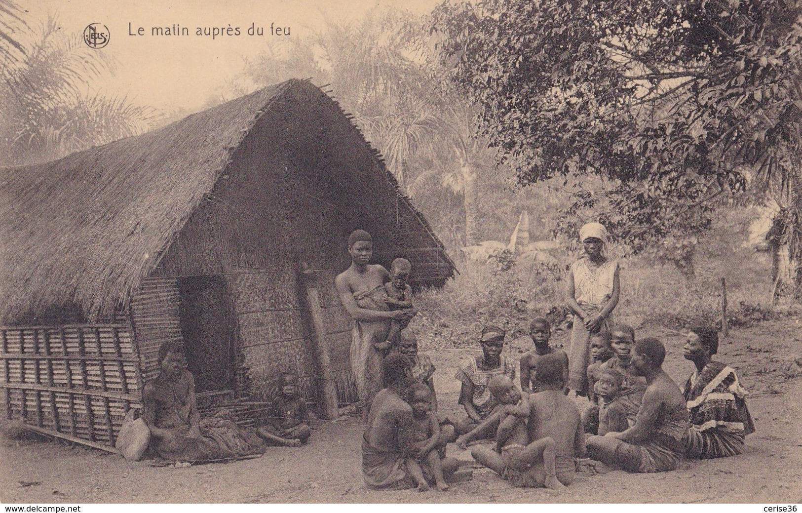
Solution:
<svg viewBox="0 0 802 513">
<path fill-rule="evenodd" d="M 496 430 L 496 449 L 476 446 L 471 452 L 477 462 L 514 487 L 559 490 L 573 482 L 574 458 L 585 455 L 579 409 L 562 393 L 562 364 L 556 355 L 541 359 L 537 365 L 541 392 L 520 398 L 517 405 L 498 407 L 496 413 L 503 418 Z M 520 397 L 507 377 L 493 378 L 493 385 L 500 401 Z"/>
</svg>

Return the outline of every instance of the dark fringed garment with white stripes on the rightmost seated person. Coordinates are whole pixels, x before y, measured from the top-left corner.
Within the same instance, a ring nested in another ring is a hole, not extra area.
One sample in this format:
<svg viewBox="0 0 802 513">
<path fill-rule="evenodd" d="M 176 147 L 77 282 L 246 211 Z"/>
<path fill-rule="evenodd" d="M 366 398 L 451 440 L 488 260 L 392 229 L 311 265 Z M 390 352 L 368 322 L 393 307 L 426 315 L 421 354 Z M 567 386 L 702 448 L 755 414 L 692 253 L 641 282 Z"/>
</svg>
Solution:
<svg viewBox="0 0 802 513">
<path fill-rule="evenodd" d="M 685 384 L 691 430 L 685 440 L 688 458 L 727 458 L 743 451 L 743 438 L 755 432 L 735 371 L 711 361 Z"/>
</svg>

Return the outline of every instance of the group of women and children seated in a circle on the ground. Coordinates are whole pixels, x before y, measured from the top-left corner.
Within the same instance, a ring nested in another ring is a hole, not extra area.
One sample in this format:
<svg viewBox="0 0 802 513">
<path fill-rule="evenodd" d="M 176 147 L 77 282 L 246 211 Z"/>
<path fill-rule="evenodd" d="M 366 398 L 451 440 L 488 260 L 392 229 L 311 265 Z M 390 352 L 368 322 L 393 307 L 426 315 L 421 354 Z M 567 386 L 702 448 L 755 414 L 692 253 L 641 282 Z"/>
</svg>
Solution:
<svg viewBox="0 0 802 513">
<path fill-rule="evenodd" d="M 476 462 L 514 487 L 560 489 L 573 481 L 577 458 L 630 472 L 675 470 L 683 457 L 740 454 L 755 430 L 735 371 L 712 360 L 719 344 L 712 328 L 688 333 L 683 355 L 695 372 L 683 389 L 662 369 L 660 340 L 636 340 L 622 324 L 594 333 L 589 405 L 580 413 L 568 397 L 568 356 L 549 344 L 547 320 L 530 325 L 534 348 L 520 358 L 520 389 L 504 355 L 504 330 L 488 326 L 480 354 L 457 368 L 466 416 L 454 419 L 432 412 L 434 367 L 407 331 L 383 360 L 386 388 L 375 396 L 363 438 L 363 477 L 374 489 L 447 489 L 456 469 L 445 457 L 447 442 L 472 445 Z"/>
</svg>

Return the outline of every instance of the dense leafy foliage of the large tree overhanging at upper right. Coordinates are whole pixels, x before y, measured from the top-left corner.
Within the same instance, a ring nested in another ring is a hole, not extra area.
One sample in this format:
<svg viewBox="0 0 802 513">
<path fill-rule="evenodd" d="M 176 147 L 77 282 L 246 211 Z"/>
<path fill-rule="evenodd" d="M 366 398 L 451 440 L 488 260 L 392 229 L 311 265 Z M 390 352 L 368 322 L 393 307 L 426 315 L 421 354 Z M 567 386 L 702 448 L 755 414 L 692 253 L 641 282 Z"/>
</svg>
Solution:
<svg viewBox="0 0 802 513">
<path fill-rule="evenodd" d="M 595 210 L 642 250 L 705 228 L 747 172 L 799 173 L 799 13 L 784 0 L 483 0 L 444 2 L 433 26 L 520 183 L 606 181 L 574 187 L 562 230 Z"/>
</svg>

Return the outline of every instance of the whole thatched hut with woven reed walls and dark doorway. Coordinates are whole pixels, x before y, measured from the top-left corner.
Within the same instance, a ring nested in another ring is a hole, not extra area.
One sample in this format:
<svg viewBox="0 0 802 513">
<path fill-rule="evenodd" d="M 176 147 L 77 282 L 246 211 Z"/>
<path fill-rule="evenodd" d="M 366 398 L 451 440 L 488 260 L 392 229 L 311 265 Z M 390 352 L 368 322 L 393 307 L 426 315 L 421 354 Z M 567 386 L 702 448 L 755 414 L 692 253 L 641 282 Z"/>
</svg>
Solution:
<svg viewBox="0 0 802 513">
<path fill-rule="evenodd" d="M 18 368 L 23 383 L 24 355 L 48 340 L 58 339 L 48 355 L 74 349 L 84 362 L 91 351 L 103 360 L 108 340 L 119 358 L 130 340 L 142 379 L 155 372 L 158 346 L 179 340 L 190 368 L 193 355 L 195 365 L 224 360 L 199 381 L 209 391 L 265 395 L 277 369 L 290 366 L 314 397 L 302 265 L 324 276 L 320 306 L 343 373 L 349 321 L 331 281 L 348 263 L 350 230 L 374 234 L 379 263 L 409 259 L 414 283 L 442 283 L 455 271 L 379 154 L 334 100 L 303 80 L 58 161 L 0 169 L 0 194 L 0 331 L 3 352 L 23 355 L 6 357 L 5 373 Z M 197 324 L 192 311 L 217 318 Z M 218 329 L 216 341 L 201 340 L 207 328 Z"/>
</svg>

